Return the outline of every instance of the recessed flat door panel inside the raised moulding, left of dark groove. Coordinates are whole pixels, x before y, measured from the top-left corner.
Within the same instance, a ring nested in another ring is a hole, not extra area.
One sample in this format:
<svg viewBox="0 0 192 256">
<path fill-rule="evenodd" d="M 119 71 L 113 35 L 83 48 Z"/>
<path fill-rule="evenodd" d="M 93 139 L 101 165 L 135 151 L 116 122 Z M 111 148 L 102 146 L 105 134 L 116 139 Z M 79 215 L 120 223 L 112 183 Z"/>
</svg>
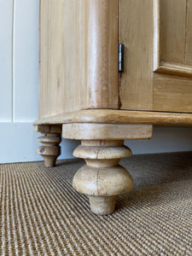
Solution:
<svg viewBox="0 0 192 256">
<path fill-rule="evenodd" d="M 160 0 L 160 60 L 184 64 L 186 0 Z"/>
</svg>

